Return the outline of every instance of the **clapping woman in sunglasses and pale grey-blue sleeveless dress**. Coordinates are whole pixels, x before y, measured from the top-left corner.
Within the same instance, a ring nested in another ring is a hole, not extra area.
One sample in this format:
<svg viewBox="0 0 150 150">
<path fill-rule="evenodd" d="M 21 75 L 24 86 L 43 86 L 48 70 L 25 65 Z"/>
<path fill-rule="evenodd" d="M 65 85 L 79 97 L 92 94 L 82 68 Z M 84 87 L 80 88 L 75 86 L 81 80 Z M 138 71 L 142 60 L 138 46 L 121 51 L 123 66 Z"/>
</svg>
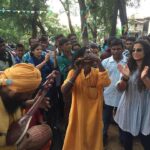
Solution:
<svg viewBox="0 0 150 150">
<path fill-rule="evenodd" d="M 121 128 L 125 150 L 132 150 L 133 137 L 140 136 L 144 150 L 150 149 L 150 45 L 136 41 L 128 65 L 118 65 L 122 73 L 118 90 L 121 97 L 115 121 Z"/>
</svg>

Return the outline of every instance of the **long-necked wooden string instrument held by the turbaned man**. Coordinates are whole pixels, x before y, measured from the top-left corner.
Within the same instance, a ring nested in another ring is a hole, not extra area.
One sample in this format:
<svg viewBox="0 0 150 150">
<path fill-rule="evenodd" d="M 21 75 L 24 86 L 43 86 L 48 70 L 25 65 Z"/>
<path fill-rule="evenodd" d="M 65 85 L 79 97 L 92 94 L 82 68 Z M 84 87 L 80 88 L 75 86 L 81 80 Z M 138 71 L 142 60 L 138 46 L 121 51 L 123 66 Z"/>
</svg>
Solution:
<svg viewBox="0 0 150 150">
<path fill-rule="evenodd" d="M 49 90 L 49 84 L 52 79 L 54 79 L 57 75 L 57 71 L 53 71 L 48 77 L 45 83 L 42 85 L 42 89 L 38 91 L 37 96 L 34 98 L 34 104 L 32 107 L 27 111 L 27 113 L 22 116 L 18 121 L 13 122 L 7 132 L 6 136 L 6 144 L 7 145 L 14 145 L 19 144 L 21 140 L 24 138 L 24 136 L 27 133 L 29 124 L 31 122 L 32 116 L 39 108 L 42 100 L 46 96 L 48 90 Z"/>
</svg>

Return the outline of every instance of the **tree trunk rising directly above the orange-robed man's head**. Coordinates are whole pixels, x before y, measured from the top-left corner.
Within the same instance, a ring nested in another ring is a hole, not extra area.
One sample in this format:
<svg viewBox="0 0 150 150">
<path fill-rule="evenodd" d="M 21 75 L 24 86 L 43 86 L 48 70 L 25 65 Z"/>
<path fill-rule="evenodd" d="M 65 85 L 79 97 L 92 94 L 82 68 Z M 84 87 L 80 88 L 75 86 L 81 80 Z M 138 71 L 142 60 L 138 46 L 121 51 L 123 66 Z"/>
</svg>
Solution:
<svg viewBox="0 0 150 150">
<path fill-rule="evenodd" d="M 89 40 L 88 40 L 85 0 L 78 0 L 78 2 L 79 2 L 79 7 L 80 7 L 81 32 L 82 32 L 83 46 L 87 46 L 87 44 L 89 43 Z"/>
</svg>

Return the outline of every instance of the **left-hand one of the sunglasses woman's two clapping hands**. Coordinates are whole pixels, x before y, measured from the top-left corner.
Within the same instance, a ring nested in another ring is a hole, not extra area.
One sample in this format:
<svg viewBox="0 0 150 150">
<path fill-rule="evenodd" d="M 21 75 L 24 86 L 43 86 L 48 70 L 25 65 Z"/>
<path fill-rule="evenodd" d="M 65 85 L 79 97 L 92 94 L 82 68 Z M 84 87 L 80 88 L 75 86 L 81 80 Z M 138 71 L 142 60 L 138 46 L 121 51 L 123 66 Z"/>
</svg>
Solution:
<svg viewBox="0 0 150 150">
<path fill-rule="evenodd" d="M 123 66 L 121 64 L 118 64 L 118 70 L 120 71 L 120 73 L 122 73 L 123 77 L 125 77 L 126 79 L 129 78 L 130 70 L 128 65 Z"/>
</svg>

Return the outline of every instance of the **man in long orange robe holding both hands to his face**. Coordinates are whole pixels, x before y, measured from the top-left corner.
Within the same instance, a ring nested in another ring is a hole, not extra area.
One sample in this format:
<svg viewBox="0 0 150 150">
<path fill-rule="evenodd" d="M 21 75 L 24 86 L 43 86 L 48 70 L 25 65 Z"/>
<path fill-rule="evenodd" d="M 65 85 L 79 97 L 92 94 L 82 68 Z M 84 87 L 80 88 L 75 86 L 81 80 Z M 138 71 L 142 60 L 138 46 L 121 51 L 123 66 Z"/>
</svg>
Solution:
<svg viewBox="0 0 150 150">
<path fill-rule="evenodd" d="M 103 88 L 110 79 L 96 55 L 88 49 L 79 53 L 61 88 L 64 96 L 72 93 L 63 150 L 103 150 Z"/>
</svg>

